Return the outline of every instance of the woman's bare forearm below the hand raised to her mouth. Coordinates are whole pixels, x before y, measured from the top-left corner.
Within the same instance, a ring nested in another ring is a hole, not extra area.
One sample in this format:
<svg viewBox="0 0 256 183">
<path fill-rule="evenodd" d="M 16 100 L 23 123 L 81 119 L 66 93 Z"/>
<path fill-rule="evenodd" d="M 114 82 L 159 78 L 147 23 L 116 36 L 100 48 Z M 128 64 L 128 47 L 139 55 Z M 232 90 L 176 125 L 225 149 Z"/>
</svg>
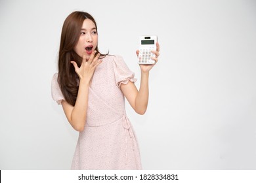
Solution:
<svg viewBox="0 0 256 183">
<path fill-rule="evenodd" d="M 75 106 L 71 114 L 71 122 L 74 129 L 83 131 L 87 118 L 88 108 L 88 95 L 89 95 L 89 82 L 79 82 L 79 89 Z"/>
</svg>

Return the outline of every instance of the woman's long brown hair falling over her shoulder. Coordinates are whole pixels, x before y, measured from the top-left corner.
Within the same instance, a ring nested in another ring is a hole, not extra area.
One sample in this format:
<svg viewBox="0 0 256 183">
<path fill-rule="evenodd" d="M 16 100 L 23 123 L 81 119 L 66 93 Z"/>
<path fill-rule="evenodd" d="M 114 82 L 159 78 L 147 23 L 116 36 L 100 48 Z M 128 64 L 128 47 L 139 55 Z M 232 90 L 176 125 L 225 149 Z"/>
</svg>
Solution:
<svg viewBox="0 0 256 183">
<path fill-rule="evenodd" d="M 58 84 L 65 100 L 70 105 L 75 105 L 78 93 L 79 77 L 75 73 L 74 66 L 70 61 L 75 61 L 78 67 L 81 66 L 82 58 L 75 53 L 74 48 L 80 36 L 81 27 L 85 19 L 93 21 L 98 33 L 95 19 L 87 12 L 75 11 L 64 21 L 60 37 L 60 50 L 58 54 Z M 99 53 L 98 45 L 95 48 Z M 104 57 L 107 54 L 100 54 Z"/>
</svg>

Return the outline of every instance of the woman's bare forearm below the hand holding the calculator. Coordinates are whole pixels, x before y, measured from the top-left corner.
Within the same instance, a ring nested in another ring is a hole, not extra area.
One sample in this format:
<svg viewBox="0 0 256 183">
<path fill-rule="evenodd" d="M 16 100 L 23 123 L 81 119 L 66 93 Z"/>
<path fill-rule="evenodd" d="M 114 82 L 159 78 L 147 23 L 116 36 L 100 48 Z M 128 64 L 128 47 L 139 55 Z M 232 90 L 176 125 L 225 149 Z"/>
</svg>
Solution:
<svg viewBox="0 0 256 183">
<path fill-rule="evenodd" d="M 148 107 L 148 77 L 149 72 L 141 72 L 140 90 L 135 99 L 135 110 L 139 114 L 144 114 Z"/>
</svg>

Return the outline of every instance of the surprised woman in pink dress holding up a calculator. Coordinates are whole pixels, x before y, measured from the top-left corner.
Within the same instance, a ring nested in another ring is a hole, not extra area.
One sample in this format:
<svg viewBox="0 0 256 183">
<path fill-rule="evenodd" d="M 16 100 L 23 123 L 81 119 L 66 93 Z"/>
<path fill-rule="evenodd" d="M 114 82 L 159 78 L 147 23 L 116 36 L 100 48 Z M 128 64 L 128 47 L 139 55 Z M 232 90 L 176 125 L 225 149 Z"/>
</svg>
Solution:
<svg viewBox="0 0 256 183">
<path fill-rule="evenodd" d="M 141 169 L 124 96 L 138 114 L 146 112 L 148 75 L 154 65 L 140 65 L 138 91 L 134 73 L 123 59 L 98 51 L 94 18 L 87 12 L 72 12 L 66 18 L 52 95 L 62 105 L 68 122 L 79 131 L 72 169 Z"/>
</svg>

